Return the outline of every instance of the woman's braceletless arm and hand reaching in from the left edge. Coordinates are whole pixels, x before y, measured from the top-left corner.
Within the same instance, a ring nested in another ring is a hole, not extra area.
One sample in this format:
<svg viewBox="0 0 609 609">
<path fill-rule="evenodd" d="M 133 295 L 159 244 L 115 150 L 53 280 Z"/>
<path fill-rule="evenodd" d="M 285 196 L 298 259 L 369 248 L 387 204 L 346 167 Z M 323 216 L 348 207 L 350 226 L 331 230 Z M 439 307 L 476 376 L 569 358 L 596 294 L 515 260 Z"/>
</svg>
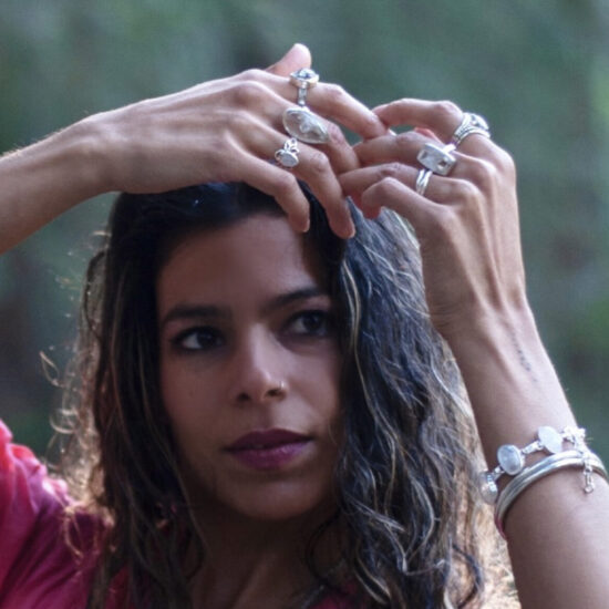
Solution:
<svg viewBox="0 0 609 609">
<path fill-rule="evenodd" d="M 288 172 L 272 159 L 287 134 L 281 115 L 296 105 L 288 75 L 311 62 L 295 45 L 268 70 L 199 84 L 186 91 L 95 114 L 0 158 L 0 251 L 92 196 L 164 192 L 205 182 L 242 180 L 272 195 L 295 228 L 308 226 L 309 206 L 297 178 L 326 206 L 334 230 L 353 226 L 336 177 L 359 165 L 341 130 L 330 123 L 328 144 L 299 144 Z M 342 89 L 320 83 L 308 104 L 362 137 L 386 130 Z"/>
</svg>

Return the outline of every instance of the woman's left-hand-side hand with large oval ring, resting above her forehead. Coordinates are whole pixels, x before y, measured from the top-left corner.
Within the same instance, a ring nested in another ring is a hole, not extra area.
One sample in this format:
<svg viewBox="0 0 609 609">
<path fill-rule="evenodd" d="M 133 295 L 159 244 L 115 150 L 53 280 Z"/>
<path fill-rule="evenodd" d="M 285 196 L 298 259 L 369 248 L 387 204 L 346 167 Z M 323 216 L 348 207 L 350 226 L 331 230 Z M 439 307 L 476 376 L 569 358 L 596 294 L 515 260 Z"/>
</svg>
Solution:
<svg viewBox="0 0 609 609">
<path fill-rule="evenodd" d="M 353 224 L 338 174 L 359 167 L 340 123 L 370 138 L 386 133 L 380 118 L 340 86 L 320 82 L 307 103 L 329 118 L 330 141 L 299 143 L 299 164 L 287 171 L 275 151 L 289 137 L 281 116 L 296 105 L 289 74 L 311 63 L 309 50 L 296 44 L 276 64 L 203 83 L 179 93 L 146 100 L 90 116 L 78 124 L 93 133 L 99 161 L 99 189 L 164 192 L 205 182 L 246 182 L 273 196 L 291 225 L 304 230 L 309 204 L 297 178 L 304 180 L 324 206 L 341 237 Z"/>
</svg>

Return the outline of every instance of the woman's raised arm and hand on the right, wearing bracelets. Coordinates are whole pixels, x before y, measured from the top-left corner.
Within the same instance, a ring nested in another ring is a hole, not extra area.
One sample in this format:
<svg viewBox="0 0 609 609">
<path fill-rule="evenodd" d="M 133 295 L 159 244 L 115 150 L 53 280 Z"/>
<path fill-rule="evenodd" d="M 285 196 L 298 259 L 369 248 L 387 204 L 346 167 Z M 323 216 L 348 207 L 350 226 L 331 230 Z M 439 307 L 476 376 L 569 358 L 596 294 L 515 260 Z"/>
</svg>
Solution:
<svg viewBox="0 0 609 609">
<path fill-rule="evenodd" d="M 575 425 L 526 297 L 514 165 L 492 141 L 471 135 L 451 174 L 432 175 L 422 196 L 416 155 L 426 142 L 448 142 L 462 112 L 415 100 L 375 112 L 388 126 L 417 128 L 359 145 L 367 167 L 341 184 L 367 215 L 385 206 L 413 225 L 431 318 L 463 373 L 494 467 L 502 444 L 525 446 L 540 425 Z M 596 492 L 585 494 L 582 469 L 565 468 L 514 503 L 505 533 L 523 607 L 607 607 L 609 486 L 595 482 Z"/>
</svg>

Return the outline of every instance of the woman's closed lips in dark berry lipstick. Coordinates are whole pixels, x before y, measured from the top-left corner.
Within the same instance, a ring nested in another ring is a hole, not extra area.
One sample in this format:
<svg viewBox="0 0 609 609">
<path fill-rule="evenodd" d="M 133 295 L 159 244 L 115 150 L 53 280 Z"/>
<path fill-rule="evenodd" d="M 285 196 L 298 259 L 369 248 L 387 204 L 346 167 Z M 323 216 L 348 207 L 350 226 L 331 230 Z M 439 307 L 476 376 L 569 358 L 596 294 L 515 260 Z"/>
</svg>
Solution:
<svg viewBox="0 0 609 609">
<path fill-rule="evenodd" d="M 255 469 L 277 469 L 297 457 L 309 442 L 309 436 L 288 430 L 265 430 L 242 435 L 227 451 Z"/>
</svg>

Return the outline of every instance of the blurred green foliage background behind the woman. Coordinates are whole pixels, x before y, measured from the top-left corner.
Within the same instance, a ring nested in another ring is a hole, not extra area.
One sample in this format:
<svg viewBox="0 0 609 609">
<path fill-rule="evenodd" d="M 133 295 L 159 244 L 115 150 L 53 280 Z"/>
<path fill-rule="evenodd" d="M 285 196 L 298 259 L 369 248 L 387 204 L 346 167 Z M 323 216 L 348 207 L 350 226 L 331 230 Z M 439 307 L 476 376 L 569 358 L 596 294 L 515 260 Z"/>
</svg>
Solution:
<svg viewBox="0 0 609 609">
<path fill-rule="evenodd" d="M 452 99 L 484 114 L 519 168 L 541 333 L 609 461 L 608 25 L 602 0 L 4 0 L 0 146 L 267 65 L 295 41 L 326 81 L 370 105 Z M 87 242 L 109 204 L 83 204 L 0 261 L 1 412 L 42 453 L 60 398 L 39 353 L 65 362 Z"/>
</svg>

